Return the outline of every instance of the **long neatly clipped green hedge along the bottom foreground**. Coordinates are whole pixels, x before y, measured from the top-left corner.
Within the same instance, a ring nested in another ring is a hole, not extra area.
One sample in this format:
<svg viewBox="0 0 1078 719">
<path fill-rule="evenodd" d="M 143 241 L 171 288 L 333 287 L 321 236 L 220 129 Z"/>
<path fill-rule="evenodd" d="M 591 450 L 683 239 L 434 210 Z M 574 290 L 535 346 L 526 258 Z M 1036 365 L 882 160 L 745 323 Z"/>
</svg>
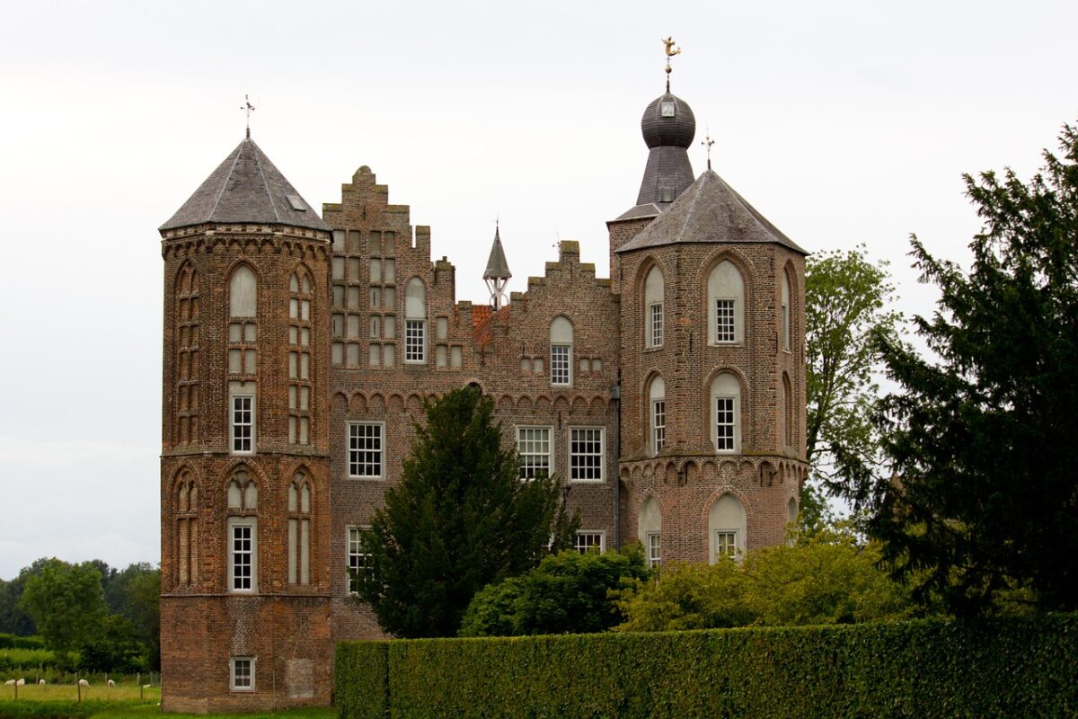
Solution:
<svg viewBox="0 0 1078 719">
<path fill-rule="evenodd" d="M 341 719 L 1068 717 L 1078 617 L 344 642 L 336 687 Z"/>
</svg>

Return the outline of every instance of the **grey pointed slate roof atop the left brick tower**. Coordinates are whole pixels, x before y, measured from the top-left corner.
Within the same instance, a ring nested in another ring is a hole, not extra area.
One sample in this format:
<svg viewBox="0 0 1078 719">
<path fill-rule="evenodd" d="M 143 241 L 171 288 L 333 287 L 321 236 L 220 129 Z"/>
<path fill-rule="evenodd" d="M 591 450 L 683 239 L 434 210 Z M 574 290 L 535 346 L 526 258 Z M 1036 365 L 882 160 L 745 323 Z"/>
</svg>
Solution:
<svg viewBox="0 0 1078 719">
<path fill-rule="evenodd" d="M 330 232 L 330 226 L 249 137 L 160 230 L 207 222 L 286 224 Z"/>
</svg>

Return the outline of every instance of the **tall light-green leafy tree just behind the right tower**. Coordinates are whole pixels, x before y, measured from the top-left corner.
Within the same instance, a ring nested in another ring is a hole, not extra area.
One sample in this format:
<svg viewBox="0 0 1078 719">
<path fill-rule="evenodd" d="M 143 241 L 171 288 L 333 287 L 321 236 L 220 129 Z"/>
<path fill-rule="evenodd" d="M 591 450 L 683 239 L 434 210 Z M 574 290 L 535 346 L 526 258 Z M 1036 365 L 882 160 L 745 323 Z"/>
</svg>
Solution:
<svg viewBox="0 0 1078 719">
<path fill-rule="evenodd" d="M 863 245 L 806 261 L 805 451 L 812 481 L 802 489 L 802 526 L 831 518 L 821 484 L 833 486 L 848 474 L 846 458 L 879 461 L 880 438 L 869 419 L 880 389 L 872 337 L 897 336 L 901 315 L 888 309 L 894 299 L 887 263 L 870 262 Z M 835 445 L 841 454 L 832 451 Z"/>
</svg>

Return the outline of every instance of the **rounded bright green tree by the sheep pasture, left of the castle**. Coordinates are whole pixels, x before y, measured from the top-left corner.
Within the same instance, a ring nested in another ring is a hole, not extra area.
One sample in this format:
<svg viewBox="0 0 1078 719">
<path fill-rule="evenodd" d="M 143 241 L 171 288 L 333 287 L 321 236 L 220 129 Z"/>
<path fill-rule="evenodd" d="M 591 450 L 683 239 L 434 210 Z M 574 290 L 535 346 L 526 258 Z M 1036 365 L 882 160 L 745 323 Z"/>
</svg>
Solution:
<svg viewBox="0 0 1078 719">
<path fill-rule="evenodd" d="M 65 654 L 92 636 L 106 614 L 101 573 L 89 563 L 49 559 L 26 580 L 19 606 L 49 648 Z"/>
</svg>

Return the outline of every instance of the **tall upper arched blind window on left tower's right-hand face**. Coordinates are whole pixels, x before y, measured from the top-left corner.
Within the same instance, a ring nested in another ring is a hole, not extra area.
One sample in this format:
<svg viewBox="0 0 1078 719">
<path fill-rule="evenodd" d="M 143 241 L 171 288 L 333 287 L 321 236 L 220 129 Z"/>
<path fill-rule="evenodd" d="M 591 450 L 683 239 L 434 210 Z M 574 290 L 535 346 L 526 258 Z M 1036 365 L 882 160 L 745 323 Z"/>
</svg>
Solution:
<svg viewBox="0 0 1078 719">
<path fill-rule="evenodd" d="M 310 276 L 305 269 L 288 280 L 288 441 L 310 443 Z"/>
</svg>

